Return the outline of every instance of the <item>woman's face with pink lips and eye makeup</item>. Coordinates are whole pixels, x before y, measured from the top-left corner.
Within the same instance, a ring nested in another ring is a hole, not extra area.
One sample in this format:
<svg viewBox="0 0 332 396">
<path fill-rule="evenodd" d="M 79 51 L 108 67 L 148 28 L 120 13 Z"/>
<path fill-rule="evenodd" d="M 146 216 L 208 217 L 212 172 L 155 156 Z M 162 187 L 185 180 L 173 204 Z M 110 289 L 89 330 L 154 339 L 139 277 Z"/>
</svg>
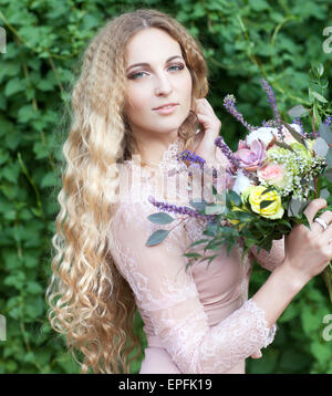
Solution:
<svg viewBox="0 0 332 396">
<path fill-rule="evenodd" d="M 143 137 L 178 131 L 191 104 L 191 75 L 178 42 L 160 29 L 142 30 L 126 46 L 125 65 L 125 113 L 133 133 Z M 169 103 L 176 105 L 156 110 Z"/>
</svg>

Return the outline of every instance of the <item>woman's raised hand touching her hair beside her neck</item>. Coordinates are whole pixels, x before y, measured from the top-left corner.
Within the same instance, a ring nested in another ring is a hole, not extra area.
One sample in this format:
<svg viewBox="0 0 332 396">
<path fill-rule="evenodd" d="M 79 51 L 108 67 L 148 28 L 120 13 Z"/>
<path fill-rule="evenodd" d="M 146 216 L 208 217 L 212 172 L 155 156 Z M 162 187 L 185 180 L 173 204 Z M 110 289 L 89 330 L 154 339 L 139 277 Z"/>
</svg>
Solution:
<svg viewBox="0 0 332 396">
<path fill-rule="evenodd" d="M 219 136 L 221 122 L 216 116 L 211 105 L 206 98 L 196 100 L 194 108 L 203 129 L 198 136 L 198 145 L 195 153 L 203 157 L 207 163 L 216 163 L 216 145 L 215 140 Z"/>
</svg>

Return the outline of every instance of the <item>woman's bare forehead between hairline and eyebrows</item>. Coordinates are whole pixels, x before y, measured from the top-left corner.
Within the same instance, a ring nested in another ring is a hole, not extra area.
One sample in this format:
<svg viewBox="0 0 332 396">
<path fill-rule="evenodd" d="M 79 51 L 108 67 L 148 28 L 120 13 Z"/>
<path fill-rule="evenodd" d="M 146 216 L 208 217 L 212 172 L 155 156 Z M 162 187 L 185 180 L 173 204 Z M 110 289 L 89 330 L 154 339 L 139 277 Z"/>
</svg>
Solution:
<svg viewBox="0 0 332 396">
<path fill-rule="evenodd" d="M 167 32 L 149 28 L 134 34 L 126 45 L 125 60 L 128 63 L 166 61 L 180 55 L 179 43 Z"/>
</svg>

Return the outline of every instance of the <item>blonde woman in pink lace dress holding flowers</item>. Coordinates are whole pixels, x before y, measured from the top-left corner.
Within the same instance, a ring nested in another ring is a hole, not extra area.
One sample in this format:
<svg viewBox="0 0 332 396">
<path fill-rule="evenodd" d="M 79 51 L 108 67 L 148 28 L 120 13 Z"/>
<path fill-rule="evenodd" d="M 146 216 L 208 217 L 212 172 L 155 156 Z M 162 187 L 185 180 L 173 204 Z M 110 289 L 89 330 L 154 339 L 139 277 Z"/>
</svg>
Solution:
<svg viewBox="0 0 332 396">
<path fill-rule="evenodd" d="M 245 373 L 246 358 L 261 356 L 278 317 L 332 258 L 332 228 L 313 222 L 326 206 L 321 199 L 305 209 L 310 231 L 295 227 L 269 254 L 252 249 L 246 265 L 238 247 L 229 256 L 221 250 L 208 268 L 186 269 L 183 254 L 204 223 L 180 215 L 162 226 L 170 231 L 162 243 L 146 246 L 160 228 L 147 219 L 159 211 L 148 198 L 188 201 L 176 154 L 195 149 L 215 166 L 227 163 L 214 145 L 221 123 L 207 93 L 199 44 L 156 10 L 114 18 L 85 52 L 46 293 L 51 324 L 83 356 L 82 373 L 129 372 L 128 355 L 135 346 L 139 353 L 136 308 L 148 343 L 139 373 Z M 159 187 L 174 171 L 178 185 L 165 192 Z M 329 225 L 332 212 L 320 219 Z M 253 257 L 271 274 L 248 300 Z"/>
</svg>

